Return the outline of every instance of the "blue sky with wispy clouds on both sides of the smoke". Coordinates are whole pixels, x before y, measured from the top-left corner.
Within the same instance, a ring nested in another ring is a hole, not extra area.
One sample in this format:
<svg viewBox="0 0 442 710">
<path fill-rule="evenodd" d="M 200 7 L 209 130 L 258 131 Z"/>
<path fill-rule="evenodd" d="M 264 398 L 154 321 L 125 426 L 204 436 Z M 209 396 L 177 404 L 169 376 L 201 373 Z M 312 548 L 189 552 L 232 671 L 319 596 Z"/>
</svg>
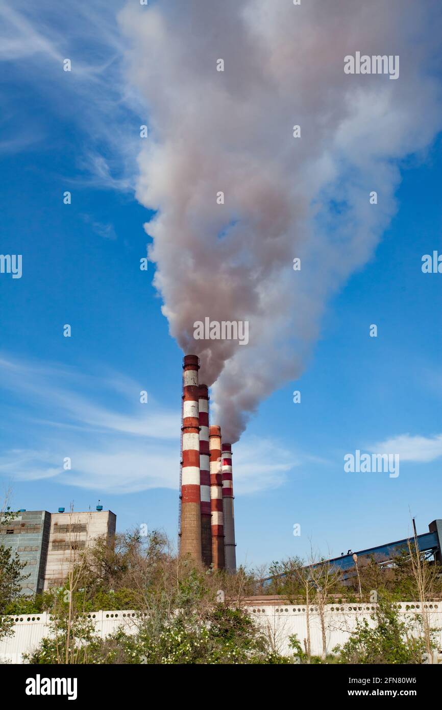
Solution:
<svg viewBox="0 0 442 710">
<path fill-rule="evenodd" d="M 97 39 L 81 18 L 69 34 L 61 15 L 45 24 L 24 3 L 12 17 L 0 11 L 13 27 L 0 251 L 23 255 L 21 279 L 0 275 L 1 482 L 15 508 L 87 510 L 100 499 L 119 530 L 147 523 L 175 538 L 182 351 L 155 265 L 139 268 L 152 213 L 134 195 L 134 136 L 149 109 L 112 82 L 112 17 Z M 83 73 L 63 73 L 60 58 L 76 47 Z M 380 244 L 328 300 L 302 376 L 261 403 L 236 445 L 238 562 L 307 555 L 311 542 L 339 555 L 407 535 L 410 511 L 419 532 L 442 518 L 442 275 L 421 272 L 423 254 L 442 253 L 440 136 L 399 167 Z M 344 473 L 346 453 L 384 442 L 400 452 L 397 479 Z"/>
</svg>

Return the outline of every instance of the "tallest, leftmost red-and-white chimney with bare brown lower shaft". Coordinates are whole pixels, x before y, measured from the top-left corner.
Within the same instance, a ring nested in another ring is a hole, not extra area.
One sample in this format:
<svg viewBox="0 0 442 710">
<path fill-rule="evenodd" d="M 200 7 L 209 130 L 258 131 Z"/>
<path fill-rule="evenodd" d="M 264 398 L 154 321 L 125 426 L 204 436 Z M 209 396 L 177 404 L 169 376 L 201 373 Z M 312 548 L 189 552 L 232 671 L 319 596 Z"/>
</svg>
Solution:
<svg viewBox="0 0 442 710">
<path fill-rule="evenodd" d="M 188 553 L 201 562 L 201 498 L 199 491 L 199 359 L 183 361 L 181 543 L 179 555 Z"/>
</svg>

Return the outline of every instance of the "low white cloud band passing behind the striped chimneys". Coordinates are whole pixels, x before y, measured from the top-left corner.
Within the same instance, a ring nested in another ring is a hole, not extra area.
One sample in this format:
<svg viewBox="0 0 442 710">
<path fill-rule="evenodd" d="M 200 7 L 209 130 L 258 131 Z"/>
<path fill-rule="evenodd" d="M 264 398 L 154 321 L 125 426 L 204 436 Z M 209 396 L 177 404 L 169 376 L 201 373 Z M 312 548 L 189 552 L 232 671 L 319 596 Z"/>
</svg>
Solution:
<svg viewBox="0 0 442 710">
<path fill-rule="evenodd" d="M 179 431 L 179 430 L 175 430 Z M 54 450 L 55 449 L 55 450 Z M 7 479 L 54 479 L 59 484 L 106 493 L 136 493 L 179 486 L 179 436 L 174 441 L 150 440 L 129 444 L 124 437 L 107 437 L 100 446 L 85 447 L 81 439 L 57 442 L 54 449 L 16 449 L 0 457 L 0 474 Z M 65 457 L 71 469 L 63 469 Z M 245 437 L 233 449 L 236 495 L 277 488 L 302 457 L 294 457 L 272 440 Z"/>
</svg>

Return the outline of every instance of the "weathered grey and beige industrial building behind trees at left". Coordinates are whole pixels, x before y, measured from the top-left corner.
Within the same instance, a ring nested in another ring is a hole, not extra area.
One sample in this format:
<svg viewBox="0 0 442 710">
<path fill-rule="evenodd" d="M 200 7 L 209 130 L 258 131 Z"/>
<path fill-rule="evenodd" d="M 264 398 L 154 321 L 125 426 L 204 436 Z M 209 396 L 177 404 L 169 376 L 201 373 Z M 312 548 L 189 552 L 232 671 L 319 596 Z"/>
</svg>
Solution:
<svg viewBox="0 0 442 710">
<path fill-rule="evenodd" d="M 104 537 L 108 544 L 115 535 L 116 515 L 111 510 L 84 513 L 57 513 L 48 510 L 19 510 L 18 516 L 7 524 L 0 520 L 0 542 L 11 547 L 21 562 L 26 562 L 21 594 L 30 596 L 61 586 L 78 552 Z"/>
</svg>

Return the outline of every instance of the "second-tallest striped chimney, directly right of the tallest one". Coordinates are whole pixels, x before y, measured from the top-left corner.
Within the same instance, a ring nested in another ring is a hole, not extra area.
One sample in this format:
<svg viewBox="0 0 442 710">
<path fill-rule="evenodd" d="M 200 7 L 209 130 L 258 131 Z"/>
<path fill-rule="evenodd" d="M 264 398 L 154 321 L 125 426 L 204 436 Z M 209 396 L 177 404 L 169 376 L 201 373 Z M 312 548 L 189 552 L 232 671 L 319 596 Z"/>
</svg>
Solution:
<svg viewBox="0 0 442 710">
<path fill-rule="evenodd" d="M 209 464 L 209 389 L 199 386 L 199 478 L 201 481 L 201 550 L 204 564 L 212 561 L 210 464 Z"/>
</svg>

